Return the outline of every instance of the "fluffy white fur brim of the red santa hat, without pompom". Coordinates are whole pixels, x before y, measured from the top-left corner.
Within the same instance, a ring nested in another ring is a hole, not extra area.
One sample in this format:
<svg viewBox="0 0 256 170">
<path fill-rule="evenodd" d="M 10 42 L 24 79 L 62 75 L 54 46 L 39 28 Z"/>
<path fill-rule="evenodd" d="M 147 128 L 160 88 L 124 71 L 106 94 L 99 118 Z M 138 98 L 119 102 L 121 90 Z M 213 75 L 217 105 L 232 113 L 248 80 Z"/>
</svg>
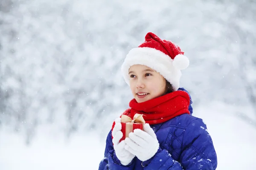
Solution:
<svg viewBox="0 0 256 170">
<path fill-rule="evenodd" d="M 179 88 L 181 71 L 173 65 L 173 59 L 162 51 L 148 47 L 131 49 L 122 64 L 122 74 L 128 85 L 130 85 L 129 68 L 136 64 L 146 65 L 160 73 L 172 84 L 175 91 Z"/>
</svg>

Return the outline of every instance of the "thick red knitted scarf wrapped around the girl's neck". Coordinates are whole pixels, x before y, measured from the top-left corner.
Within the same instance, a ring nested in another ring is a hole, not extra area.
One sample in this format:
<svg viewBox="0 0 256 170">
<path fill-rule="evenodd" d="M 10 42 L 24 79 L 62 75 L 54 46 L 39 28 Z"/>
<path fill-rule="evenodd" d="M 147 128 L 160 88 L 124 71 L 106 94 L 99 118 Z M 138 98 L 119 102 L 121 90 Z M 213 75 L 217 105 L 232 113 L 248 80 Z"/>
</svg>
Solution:
<svg viewBox="0 0 256 170">
<path fill-rule="evenodd" d="M 127 109 L 124 115 L 133 119 L 136 113 L 143 114 L 145 122 L 149 125 L 166 122 L 184 113 L 189 114 L 189 94 L 185 91 L 174 91 L 146 102 L 138 103 L 132 99 L 129 103 L 131 108 Z M 122 115 L 121 115 L 122 116 Z M 113 123 L 113 127 L 115 122 Z"/>
</svg>

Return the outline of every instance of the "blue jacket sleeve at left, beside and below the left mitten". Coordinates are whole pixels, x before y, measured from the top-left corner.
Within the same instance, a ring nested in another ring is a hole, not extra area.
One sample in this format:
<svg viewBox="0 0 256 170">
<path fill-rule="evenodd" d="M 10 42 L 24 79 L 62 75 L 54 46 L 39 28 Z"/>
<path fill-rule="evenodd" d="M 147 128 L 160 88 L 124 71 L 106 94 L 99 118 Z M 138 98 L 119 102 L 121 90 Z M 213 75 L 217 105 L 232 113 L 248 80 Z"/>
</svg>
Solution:
<svg viewBox="0 0 256 170">
<path fill-rule="evenodd" d="M 108 133 L 105 147 L 104 159 L 99 163 L 99 170 L 133 170 L 134 161 L 131 161 L 127 166 L 123 166 L 119 159 L 116 157 L 116 153 L 112 143 L 112 130 Z"/>
</svg>

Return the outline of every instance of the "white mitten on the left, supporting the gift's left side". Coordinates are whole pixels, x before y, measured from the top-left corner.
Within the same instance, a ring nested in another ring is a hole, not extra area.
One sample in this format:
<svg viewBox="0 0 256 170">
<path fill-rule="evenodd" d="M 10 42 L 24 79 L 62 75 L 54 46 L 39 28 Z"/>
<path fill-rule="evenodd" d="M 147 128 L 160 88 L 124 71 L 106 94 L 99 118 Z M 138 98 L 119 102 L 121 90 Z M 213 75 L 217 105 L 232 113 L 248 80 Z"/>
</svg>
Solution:
<svg viewBox="0 0 256 170">
<path fill-rule="evenodd" d="M 125 141 L 120 141 L 120 139 L 122 139 L 122 125 L 121 125 L 121 118 L 117 118 L 115 120 L 116 124 L 113 128 L 112 131 L 112 142 L 113 142 L 113 146 L 114 146 L 114 150 L 116 152 L 116 157 L 119 159 L 119 161 L 121 162 L 122 165 L 128 165 L 132 159 L 134 159 L 134 155 L 132 153 L 130 153 L 128 150 L 125 150 Z"/>
</svg>

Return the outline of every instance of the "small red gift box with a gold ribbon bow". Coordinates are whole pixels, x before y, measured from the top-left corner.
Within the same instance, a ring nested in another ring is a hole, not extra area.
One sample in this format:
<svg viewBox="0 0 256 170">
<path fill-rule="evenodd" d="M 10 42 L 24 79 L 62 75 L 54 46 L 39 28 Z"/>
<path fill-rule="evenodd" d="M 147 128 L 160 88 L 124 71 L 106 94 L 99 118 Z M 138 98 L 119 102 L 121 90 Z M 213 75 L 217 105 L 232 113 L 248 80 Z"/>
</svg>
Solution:
<svg viewBox="0 0 256 170">
<path fill-rule="evenodd" d="M 123 133 L 123 136 L 122 136 L 122 139 L 120 139 L 120 142 L 122 140 L 125 140 L 125 138 L 129 136 L 129 133 L 133 132 L 134 129 L 143 130 L 144 123 L 145 123 L 145 120 L 143 119 L 142 114 L 136 113 L 134 115 L 133 120 L 129 116 L 122 115 L 121 116 L 121 125 L 122 125 L 121 132 Z"/>
</svg>

